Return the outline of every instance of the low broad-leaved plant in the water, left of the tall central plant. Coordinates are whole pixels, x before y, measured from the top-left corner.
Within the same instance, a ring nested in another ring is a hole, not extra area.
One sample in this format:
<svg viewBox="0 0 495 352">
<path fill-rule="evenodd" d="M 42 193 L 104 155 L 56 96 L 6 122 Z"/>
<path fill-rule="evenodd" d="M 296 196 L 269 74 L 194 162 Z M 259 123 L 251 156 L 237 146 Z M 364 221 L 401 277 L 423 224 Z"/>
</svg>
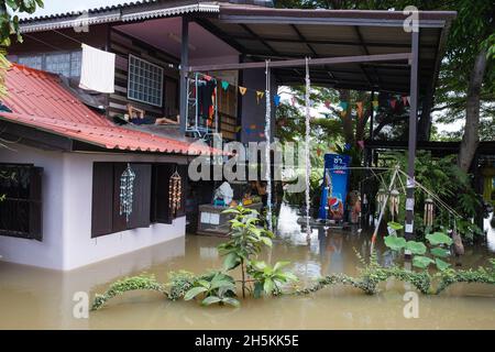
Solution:
<svg viewBox="0 0 495 352">
<path fill-rule="evenodd" d="M 220 304 L 239 307 L 240 305 L 234 298 L 237 296 L 235 280 L 221 272 L 211 272 L 196 279 L 193 287 L 184 295 L 184 300 L 191 300 L 198 296 L 202 297 L 202 306 Z"/>
</svg>

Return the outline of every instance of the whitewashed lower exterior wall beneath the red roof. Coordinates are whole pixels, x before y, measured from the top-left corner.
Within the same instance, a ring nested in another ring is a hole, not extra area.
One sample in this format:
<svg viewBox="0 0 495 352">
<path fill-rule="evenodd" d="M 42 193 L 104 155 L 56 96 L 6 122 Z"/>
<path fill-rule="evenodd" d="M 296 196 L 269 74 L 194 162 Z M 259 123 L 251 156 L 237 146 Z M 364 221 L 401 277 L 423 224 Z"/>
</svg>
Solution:
<svg viewBox="0 0 495 352">
<path fill-rule="evenodd" d="M 184 158 L 14 148 L 1 150 L 0 162 L 44 168 L 43 242 L 0 237 L 2 261 L 68 271 L 185 235 L 186 218 L 182 217 L 172 224 L 155 223 L 91 239 L 94 162 L 184 163 Z"/>
</svg>

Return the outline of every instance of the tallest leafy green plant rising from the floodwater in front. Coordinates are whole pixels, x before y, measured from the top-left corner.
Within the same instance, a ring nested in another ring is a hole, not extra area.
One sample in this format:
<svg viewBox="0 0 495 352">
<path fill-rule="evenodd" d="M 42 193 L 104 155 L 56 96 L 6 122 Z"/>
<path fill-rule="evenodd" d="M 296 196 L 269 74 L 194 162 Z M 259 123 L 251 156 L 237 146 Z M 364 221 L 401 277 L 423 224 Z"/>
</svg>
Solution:
<svg viewBox="0 0 495 352">
<path fill-rule="evenodd" d="M 246 290 L 246 263 L 256 257 L 263 246 L 272 246 L 273 233 L 264 228 L 260 228 L 260 213 L 254 209 L 238 206 L 237 208 L 223 211 L 233 215 L 230 221 L 231 231 L 229 241 L 218 246 L 220 255 L 224 257 L 223 270 L 231 271 L 240 266 L 242 297 Z"/>
</svg>

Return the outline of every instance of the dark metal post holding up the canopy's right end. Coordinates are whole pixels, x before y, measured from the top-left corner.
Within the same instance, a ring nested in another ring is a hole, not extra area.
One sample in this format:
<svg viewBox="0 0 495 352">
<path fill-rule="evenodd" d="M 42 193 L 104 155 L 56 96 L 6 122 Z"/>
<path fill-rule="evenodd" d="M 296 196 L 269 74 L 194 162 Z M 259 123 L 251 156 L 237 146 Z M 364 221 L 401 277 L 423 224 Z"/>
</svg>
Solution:
<svg viewBox="0 0 495 352">
<path fill-rule="evenodd" d="M 413 46 L 410 59 L 410 109 L 409 109 L 409 144 L 407 164 L 407 190 L 406 190 L 406 240 L 415 239 L 415 160 L 418 120 L 418 56 L 419 56 L 419 29 L 411 32 Z M 406 253 L 406 257 L 410 253 Z"/>
</svg>

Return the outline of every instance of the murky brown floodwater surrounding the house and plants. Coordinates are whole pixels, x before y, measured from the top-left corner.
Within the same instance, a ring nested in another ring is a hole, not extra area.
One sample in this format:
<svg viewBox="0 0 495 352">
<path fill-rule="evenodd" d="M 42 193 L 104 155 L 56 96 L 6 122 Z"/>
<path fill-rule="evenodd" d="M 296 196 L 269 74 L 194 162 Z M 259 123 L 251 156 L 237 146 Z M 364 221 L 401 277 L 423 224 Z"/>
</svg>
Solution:
<svg viewBox="0 0 495 352">
<path fill-rule="evenodd" d="M 355 274 L 354 251 L 369 252 L 370 235 L 353 231 L 300 233 L 294 211 L 283 208 L 278 239 L 264 258 L 292 262 L 301 284 L 327 273 Z M 462 267 L 494 257 L 488 243 L 468 248 Z M 240 308 L 202 308 L 195 301 L 167 301 L 155 293 L 128 293 L 107 308 L 76 319 L 77 292 L 103 292 L 111 282 L 143 272 L 165 282 L 170 271 L 202 273 L 221 265 L 220 238 L 188 235 L 80 270 L 61 273 L 0 262 L 0 329 L 495 329 L 495 286 L 457 284 L 440 296 L 419 294 L 418 318 L 406 319 L 404 294 L 410 287 L 394 280 L 382 292 L 336 286 L 304 297 L 246 299 Z M 383 264 L 394 257 L 378 245 Z"/>
</svg>

